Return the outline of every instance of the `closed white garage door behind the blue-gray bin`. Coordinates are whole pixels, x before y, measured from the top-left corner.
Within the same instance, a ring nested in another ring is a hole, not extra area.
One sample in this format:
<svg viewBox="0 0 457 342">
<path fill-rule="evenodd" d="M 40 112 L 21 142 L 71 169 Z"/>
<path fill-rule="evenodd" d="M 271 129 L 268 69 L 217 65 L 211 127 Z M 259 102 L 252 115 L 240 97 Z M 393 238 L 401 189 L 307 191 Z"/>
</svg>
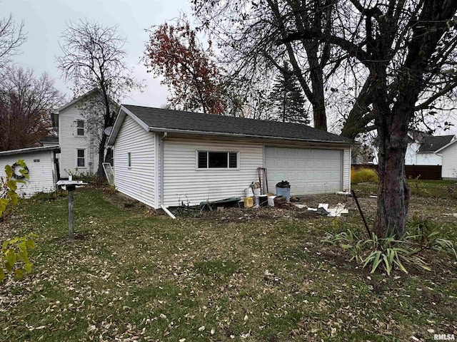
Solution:
<svg viewBox="0 0 457 342">
<path fill-rule="evenodd" d="M 341 150 L 265 147 L 268 192 L 288 180 L 291 195 L 341 191 Z"/>
</svg>

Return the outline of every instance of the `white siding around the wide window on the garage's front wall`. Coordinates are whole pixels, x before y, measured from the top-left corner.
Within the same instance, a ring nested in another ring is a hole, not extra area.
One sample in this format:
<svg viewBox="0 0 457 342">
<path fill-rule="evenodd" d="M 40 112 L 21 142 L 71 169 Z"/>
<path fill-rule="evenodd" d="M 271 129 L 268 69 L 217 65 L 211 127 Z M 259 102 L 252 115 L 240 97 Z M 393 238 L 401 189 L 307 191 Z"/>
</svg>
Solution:
<svg viewBox="0 0 457 342">
<path fill-rule="evenodd" d="M 238 170 L 196 170 L 196 151 L 239 152 Z M 229 197 L 243 197 L 244 189 L 258 180 L 263 166 L 261 143 L 221 140 L 164 140 L 164 205 L 166 207 Z"/>
</svg>

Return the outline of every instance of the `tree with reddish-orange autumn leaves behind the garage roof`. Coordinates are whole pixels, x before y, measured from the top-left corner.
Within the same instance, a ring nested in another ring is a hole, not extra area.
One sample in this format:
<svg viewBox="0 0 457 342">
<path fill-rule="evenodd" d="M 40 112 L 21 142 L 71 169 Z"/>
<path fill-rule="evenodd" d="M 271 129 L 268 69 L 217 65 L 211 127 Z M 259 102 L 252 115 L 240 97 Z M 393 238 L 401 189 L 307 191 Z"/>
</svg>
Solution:
<svg viewBox="0 0 457 342">
<path fill-rule="evenodd" d="M 183 110 L 222 114 L 222 81 L 214 54 L 204 46 L 183 17 L 175 24 L 162 24 L 150 31 L 145 63 L 148 72 L 163 76 L 169 88 L 169 105 Z"/>
</svg>

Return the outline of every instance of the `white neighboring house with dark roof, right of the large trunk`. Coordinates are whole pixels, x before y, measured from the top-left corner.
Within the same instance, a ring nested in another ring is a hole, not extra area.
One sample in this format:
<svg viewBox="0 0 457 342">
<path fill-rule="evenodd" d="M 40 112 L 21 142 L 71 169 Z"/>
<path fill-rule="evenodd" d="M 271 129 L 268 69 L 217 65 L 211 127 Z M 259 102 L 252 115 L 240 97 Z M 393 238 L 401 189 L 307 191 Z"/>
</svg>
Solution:
<svg viewBox="0 0 457 342">
<path fill-rule="evenodd" d="M 406 150 L 406 165 L 442 165 L 441 155 L 437 155 L 436 151 L 454 139 L 453 135 L 427 135 L 420 132 L 408 135 L 411 142 Z"/>
</svg>

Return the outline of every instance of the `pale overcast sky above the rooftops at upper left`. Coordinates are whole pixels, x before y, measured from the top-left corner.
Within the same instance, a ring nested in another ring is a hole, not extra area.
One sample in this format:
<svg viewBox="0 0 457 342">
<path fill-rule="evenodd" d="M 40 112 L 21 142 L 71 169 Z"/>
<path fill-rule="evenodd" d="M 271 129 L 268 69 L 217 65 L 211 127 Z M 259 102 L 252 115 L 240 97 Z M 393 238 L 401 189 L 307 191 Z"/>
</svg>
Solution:
<svg viewBox="0 0 457 342">
<path fill-rule="evenodd" d="M 118 25 L 119 34 L 127 39 L 127 63 L 147 86 L 143 93 L 131 93 L 122 102 L 154 107 L 166 103 L 166 87 L 146 73 L 140 62 L 148 40 L 145 29 L 175 19 L 180 12 L 189 14 L 188 0 L 0 0 L 0 8 L 2 17 L 11 13 L 16 22 L 24 21 L 27 41 L 21 55 L 14 58 L 16 64 L 33 69 L 35 76 L 46 71 L 56 79 L 56 88 L 69 96 L 71 84 L 60 79 L 56 68 L 56 56 L 61 54 L 59 38 L 66 23 L 89 19 L 104 26 Z"/>
</svg>

